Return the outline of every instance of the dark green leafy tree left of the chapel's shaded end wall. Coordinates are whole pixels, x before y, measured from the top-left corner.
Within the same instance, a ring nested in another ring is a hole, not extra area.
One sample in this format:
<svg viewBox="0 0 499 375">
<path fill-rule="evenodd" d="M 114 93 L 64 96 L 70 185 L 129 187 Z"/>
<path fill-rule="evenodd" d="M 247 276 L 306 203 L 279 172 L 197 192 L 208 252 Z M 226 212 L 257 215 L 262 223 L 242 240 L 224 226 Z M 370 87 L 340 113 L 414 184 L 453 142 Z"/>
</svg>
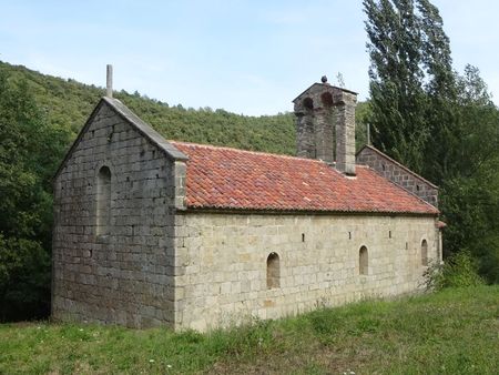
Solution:
<svg viewBox="0 0 499 375">
<path fill-rule="evenodd" d="M 68 134 L 47 123 L 26 81 L 0 71 L 0 320 L 47 314 L 50 180 Z"/>
</svg>

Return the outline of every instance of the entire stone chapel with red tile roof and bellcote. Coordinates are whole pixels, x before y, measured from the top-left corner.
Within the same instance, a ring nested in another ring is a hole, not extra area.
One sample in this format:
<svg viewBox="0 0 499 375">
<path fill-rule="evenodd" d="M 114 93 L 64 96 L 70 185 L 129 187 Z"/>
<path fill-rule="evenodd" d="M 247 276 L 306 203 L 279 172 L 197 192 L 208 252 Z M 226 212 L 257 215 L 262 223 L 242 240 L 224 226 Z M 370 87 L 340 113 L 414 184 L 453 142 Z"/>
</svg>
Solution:
<svg viewBox="0 0 499 375">
<path fill-rule="evenodd" d="M 54 179 L 53 317 L 207 331 L 421 290 L 438 189 L 356 154 L 355 107 L 299 94 L 295 158 L 166 141 L 102 98 Z"/>
</svg>

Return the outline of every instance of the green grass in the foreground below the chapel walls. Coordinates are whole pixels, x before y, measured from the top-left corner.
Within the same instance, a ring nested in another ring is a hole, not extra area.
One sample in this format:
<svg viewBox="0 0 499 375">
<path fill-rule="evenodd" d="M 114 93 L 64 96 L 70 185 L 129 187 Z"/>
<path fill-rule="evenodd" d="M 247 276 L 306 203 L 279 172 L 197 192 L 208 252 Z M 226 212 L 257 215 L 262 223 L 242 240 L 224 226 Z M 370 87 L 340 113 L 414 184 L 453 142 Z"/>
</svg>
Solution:
<svg viewBox="0 0 499 375">
<path fill-rule="evenodd" d="M 0 374 L 497 374 L 499 286 L 172 333 L 0 325 Z"/>
</svg>

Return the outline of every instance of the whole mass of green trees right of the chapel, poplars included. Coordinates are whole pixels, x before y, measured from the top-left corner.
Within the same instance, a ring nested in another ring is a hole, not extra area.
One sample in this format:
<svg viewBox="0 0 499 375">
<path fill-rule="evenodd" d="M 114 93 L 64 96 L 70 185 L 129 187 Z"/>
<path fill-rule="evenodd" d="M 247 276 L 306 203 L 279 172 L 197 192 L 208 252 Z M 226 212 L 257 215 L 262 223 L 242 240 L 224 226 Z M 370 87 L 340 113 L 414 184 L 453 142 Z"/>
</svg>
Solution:
<svg viewBox="0 0 499 375">
<path fill-rule="evenodd" d="M 499 282 L 499 111 L 478 69 L 452 70 L 428 0 L 364 0 L 373 143 L 440 186 L 447 253 Z"/>
</svg>

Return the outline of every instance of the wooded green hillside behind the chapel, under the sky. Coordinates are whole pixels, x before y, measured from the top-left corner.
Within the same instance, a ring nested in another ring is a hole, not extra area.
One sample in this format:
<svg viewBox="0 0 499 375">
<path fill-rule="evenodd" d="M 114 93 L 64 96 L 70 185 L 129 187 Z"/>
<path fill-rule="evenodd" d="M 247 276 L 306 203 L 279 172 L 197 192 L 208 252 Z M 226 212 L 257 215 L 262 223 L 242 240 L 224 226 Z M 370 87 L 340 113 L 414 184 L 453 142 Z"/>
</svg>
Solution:
<svg viewBox="0 0 499 375">
<path fill-rule="evenodd" d="M 72 138 L 78 134 L 92 109 L 104 94 L 104 89 L 74 80 L 45 75 L 20 65 L 0 61 L 0 70 L 11 80 L 26 80 L 39 107 L 44 109 L 51 124 L 69 128 Z M 149 122 L 169 140 L 227 145 L 244 150 L 281 154 L 296 152 L 296 132 L 293 113 L 247 116 L 224 110 L 184 109 L 149 99 L 138 92 L 115 92 L 140 118 Z M 293 93 L 289 93 L 289 98 Z M 357 121 L 366 113 L 366 103 L 359 103 Z M 289 105 L 289 110 L 292 107 Z M 359 144 L 365 141 L 364 126 L 358 126 Z"/>
</svg>

